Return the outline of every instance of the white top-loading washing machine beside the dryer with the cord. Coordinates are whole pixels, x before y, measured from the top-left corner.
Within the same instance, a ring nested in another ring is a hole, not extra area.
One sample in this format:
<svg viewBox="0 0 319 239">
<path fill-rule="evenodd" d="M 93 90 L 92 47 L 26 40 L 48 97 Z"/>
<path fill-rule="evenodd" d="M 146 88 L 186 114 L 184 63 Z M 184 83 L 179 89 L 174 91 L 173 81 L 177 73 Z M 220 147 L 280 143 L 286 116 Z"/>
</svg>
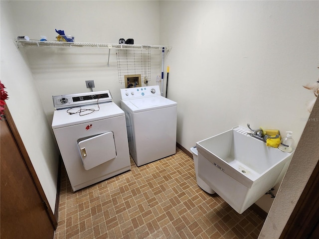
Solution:
<svg viewBox="0 0 319 239">
<path fill-rule="evenodd" d="M 121 108 L 137 166 L 176 153 L 177 103 L 160 96 L 159 86 L 121 89 Z"/>
</svg>

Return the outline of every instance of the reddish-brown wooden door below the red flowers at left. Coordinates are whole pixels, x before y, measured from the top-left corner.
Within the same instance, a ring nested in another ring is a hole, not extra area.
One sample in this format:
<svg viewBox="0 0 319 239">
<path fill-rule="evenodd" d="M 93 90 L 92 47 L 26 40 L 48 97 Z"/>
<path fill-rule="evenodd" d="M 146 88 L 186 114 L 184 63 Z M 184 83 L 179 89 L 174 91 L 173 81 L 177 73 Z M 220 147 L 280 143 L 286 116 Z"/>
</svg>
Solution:
<svg viewBox="0 0 319 239">
<path fill-rule="evenodd" d="M 34 169 L 33 169 L 34 170 Z M 54 224 L 12 135 L 0 121 L 0 238 L 52 239 Z"/>
</svg>

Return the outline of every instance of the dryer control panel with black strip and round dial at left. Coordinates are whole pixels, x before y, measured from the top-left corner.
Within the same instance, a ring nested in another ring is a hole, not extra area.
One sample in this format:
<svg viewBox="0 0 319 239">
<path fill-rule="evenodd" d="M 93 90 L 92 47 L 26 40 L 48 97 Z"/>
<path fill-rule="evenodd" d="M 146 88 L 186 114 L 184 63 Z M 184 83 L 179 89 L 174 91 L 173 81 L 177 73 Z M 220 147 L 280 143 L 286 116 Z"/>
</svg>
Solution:
<svg viewBox="0 0 319 239">
<path fill-rule="evenodd" d="M 110 91 L 96 91 L 79 94 L 52 96 L 53 106 L 56 110 L 85 106 L 97 103 L 112 102 Z"/>
</svg>

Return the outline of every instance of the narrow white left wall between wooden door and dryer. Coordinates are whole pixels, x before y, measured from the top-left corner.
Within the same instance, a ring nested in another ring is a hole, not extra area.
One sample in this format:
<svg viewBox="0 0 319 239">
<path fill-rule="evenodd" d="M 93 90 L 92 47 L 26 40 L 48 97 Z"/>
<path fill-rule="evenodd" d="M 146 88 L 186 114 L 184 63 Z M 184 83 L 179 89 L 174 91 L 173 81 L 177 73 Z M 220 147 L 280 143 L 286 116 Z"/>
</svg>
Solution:
<svg viewBox="0 0 319 239">
<path fill-rule="evenodd" d="M 11 2 L 1 1 L 0 79 L 9 95 L 6 104 L 54 212 L 58 151 L 32 73 L 13 43 L 17 31 L 10 6 Z"/>
</svg>

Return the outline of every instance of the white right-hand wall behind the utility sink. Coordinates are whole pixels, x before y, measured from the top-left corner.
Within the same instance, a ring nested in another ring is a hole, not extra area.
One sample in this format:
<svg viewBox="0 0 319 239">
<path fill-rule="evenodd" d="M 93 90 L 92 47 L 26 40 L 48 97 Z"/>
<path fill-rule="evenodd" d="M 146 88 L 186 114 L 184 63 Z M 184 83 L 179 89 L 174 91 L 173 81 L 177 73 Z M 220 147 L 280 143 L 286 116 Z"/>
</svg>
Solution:
<svg viewBox="0 0 319 239">
<path fill-rule="evenodd" d="M 314 98 L 302 86 L 319 75 L 318 11 L 318 1 L 161 1 L 177 142 L 189 149 L 250 123 L 293 131 L 298 143 Z"/>
</svg>

